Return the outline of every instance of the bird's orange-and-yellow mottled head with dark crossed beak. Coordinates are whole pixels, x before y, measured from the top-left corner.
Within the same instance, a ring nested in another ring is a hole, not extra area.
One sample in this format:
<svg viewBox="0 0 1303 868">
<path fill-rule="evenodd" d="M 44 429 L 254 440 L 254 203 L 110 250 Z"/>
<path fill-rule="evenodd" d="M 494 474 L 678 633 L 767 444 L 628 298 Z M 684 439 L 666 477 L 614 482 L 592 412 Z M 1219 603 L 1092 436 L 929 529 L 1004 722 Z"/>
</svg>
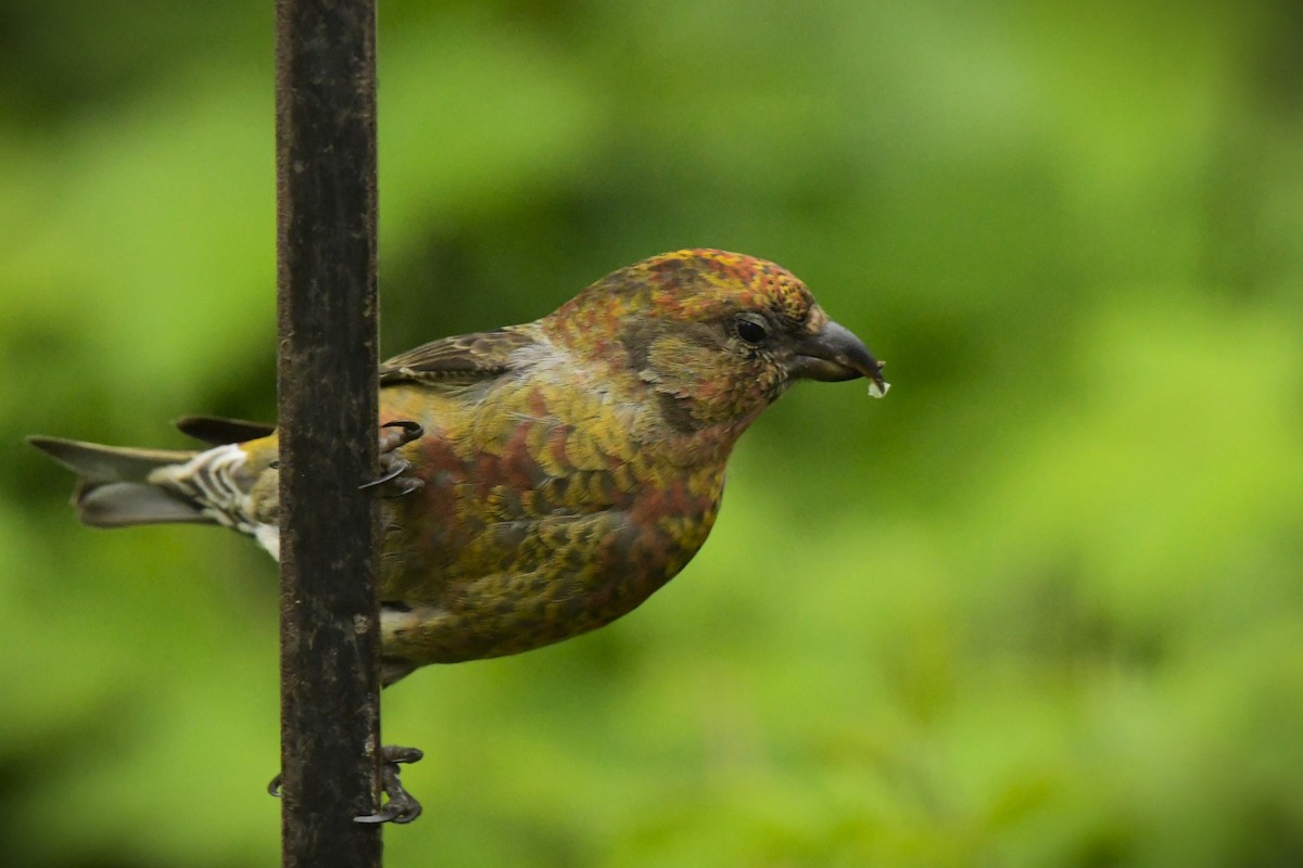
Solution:
<svg viewBox="0 0 1303 868">
<path fill-rule="evenodd" d="M 882 363 L 800 280 L 741 254 L 653 256 L 599 280 L 549 319 L 575 350 L 627 364 L 684 432 L 740 432 L 795 380 L 863 376 L 870 394 L 887 389 Z"/>
</svg>

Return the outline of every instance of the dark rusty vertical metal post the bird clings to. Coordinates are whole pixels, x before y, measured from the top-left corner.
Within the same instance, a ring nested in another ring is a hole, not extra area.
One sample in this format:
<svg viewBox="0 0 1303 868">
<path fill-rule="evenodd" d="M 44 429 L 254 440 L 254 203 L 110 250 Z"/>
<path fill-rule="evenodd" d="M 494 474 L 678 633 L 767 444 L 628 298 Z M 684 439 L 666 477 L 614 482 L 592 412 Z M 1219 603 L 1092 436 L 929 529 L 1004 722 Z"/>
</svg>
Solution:
<svg viewBox="0 0 1303 868">
<path fill-rule="evenodd" d="M 374 0 L 276 0 L 283 864 L 379 868 Z"/>
</svg>

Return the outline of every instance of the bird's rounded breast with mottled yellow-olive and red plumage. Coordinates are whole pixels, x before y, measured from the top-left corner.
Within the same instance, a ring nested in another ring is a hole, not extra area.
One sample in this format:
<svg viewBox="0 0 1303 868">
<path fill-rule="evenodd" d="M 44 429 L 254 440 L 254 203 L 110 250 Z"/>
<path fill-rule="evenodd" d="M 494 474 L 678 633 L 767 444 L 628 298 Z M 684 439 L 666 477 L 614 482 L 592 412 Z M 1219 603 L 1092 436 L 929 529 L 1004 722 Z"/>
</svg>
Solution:
<svg viewBox="0 0 1303 868">
<path fill-rule="evenodd" d="M 722 462 L 665 462 L 615 420 L 550 411 L 427 420 L 423 487 L 388 501 L 383 593 L 422 662 L 516 653 L 625 614 L 681 570 L 718 513 Z M 399 642 L 392 639 L 394 643 Z M 388 653 L 388 651 L 387 651 Z"/>
</svg>

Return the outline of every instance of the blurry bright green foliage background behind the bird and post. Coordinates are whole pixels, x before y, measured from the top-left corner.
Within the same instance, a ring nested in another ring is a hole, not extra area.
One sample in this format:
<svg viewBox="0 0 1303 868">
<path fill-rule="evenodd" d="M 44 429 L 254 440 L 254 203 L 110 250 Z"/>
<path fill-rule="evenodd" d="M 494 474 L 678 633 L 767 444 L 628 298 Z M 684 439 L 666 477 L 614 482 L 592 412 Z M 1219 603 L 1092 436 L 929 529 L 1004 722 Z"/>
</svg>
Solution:
<svg viewBox="0 0 1303 868">
<path fill-rule="evenodd" d="M 30 432 L 275 405 L 270 0 L 0 7 L 0 845 L 275 865 L 275 569 Z M 1303 7 L 383 4 L 383 349 L 681 246 L 801 387 L 635 616 L 386 696 L 390 865 L 1303 864 Z"/>
</svg>

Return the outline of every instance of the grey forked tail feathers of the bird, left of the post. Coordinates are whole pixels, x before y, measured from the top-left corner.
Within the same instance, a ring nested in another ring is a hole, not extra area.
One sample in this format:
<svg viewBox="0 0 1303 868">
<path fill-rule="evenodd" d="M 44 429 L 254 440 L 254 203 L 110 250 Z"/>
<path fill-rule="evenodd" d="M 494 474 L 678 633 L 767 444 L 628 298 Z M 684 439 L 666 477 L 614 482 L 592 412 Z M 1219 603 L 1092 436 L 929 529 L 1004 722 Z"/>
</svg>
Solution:
<svg viewBox="0 0 1303 868">
<path fill-rule="evenodd" d="M 180 492 L 150 481 L 159 467 L 190 461 L 193 452 L 102 446 L 59 437 L 29 437 L 42 450 L 78 476 L 73 505 L 82 522 L 94 527 L 211 522 Z"/>
</svg>

